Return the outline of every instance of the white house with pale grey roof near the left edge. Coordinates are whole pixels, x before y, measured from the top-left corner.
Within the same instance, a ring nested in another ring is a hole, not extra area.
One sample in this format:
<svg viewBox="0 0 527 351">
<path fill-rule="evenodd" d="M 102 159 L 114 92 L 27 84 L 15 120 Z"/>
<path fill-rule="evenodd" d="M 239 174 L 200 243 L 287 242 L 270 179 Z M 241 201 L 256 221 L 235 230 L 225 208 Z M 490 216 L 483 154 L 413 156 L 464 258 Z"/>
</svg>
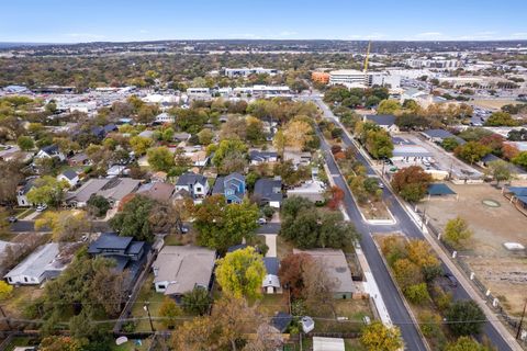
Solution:
<svg viewBox="0 0 527 351">
<path fill-rule="evenodd" d="M 66 267 L 67 263 L 60 260 L 58 244 L 52 242 L 38 247 L 4 278 L 12 285 L 37 285 L 57 278 Z"/>
</svg>

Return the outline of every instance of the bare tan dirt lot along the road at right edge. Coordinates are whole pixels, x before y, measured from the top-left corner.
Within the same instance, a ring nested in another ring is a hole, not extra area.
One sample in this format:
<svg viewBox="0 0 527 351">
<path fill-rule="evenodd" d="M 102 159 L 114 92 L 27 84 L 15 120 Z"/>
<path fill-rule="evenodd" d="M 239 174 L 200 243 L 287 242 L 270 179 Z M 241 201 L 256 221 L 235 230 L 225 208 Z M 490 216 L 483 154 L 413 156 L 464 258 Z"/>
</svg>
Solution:
<svg viewBox="0 0 527 351">
<path fill-rule="evenodd" d="M 514 241 L 527 247 L 527 217 L 489 184 L 448 185 L 459 194 L 459 201 L 433 199 L 419 207 L 426 210 L 439 230 L 458 215 L 469 223 L 474 236 L 460 257 L 511 313 L 522 313 L 527 288 L 527 254 L 507 251 L 503 244 Z M 492 200 L 500 206 L 490 207 L 483 200 Z"/>
</svg>

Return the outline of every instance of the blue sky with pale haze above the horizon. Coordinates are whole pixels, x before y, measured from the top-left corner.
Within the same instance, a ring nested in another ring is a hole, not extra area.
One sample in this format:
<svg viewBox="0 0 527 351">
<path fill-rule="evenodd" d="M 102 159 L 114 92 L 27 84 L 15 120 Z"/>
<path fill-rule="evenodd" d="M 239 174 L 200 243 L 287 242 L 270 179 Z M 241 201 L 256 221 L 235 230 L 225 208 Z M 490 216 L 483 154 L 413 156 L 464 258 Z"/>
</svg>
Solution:
<svg viewBox="0 0 527 351">
<path fill-rule="evenodd" d="M 527 0 L 1 0 L 0 42 L 527 39 Z"/>
</svg>

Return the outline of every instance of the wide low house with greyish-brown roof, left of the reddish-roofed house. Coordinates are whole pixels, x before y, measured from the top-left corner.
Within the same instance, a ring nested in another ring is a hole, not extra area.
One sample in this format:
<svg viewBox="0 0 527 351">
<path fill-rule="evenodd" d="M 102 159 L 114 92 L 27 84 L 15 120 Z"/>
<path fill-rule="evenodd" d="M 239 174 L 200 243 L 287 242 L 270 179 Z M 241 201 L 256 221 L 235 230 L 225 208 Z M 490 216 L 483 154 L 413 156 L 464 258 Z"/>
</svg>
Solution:
<svg viewBox="0 0 527 351">
<path fill-rule="evenodd" d="M 69 192 L 66 195 L 66 203 L 70 206 L 83 207 L 92 195 L 101 195 L 112 206 L 119 205 L 124 196 L 135 192 L 139 185 L 141 180 L 131 178 L 90 179 L 79 189 Z"/>
</svg>

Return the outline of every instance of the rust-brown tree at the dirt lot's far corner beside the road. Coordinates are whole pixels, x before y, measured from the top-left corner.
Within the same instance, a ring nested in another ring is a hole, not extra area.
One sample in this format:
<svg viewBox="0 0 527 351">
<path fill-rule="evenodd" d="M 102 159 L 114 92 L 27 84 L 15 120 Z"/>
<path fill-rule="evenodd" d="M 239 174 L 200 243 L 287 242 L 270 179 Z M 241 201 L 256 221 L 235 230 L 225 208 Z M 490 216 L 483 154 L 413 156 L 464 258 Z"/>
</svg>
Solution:
<svg viewBox="0 0 527 351">
<path fill-rule="evenodd" d="M 406 201 L 417 202 L 426 195 L 431 176 L 418 166 L 402 168 L 393 174 L 392 188 Z"/>
</svg>

